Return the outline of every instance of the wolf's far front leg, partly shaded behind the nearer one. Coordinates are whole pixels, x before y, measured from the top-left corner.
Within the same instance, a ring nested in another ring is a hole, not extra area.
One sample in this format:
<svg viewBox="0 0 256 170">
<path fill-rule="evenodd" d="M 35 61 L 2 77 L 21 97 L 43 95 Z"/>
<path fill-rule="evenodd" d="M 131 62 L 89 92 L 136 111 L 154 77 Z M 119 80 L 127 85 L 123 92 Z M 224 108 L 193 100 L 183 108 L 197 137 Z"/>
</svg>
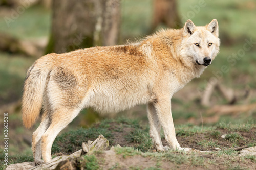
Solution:
<svg viewBox="0 0 256 170">
<path fill-rule="evenodd" d="M 150 137 L 153 139 L 157 151 L 168 150 L 167 147 L 163 147 L 160 135 L 161 125 L 157 117 L 156 109 L 152 103 L 147 105 L 147 117 L 150 123 Z"/>
</svg>

